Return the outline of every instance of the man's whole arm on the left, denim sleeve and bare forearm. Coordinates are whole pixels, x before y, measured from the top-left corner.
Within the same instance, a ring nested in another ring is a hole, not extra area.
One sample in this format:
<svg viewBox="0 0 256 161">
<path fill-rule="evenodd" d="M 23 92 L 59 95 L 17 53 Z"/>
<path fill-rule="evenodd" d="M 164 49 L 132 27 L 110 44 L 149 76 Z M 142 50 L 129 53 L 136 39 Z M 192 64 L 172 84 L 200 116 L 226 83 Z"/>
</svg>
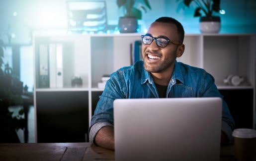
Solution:
<svg viewBox="0 0 256 161">
<path fill-rule="evenodd" d="M 125 78 L 122 74 L 119 70 L 111 74 L 103 93 L 99 96 L 89 128 L 89 141 L 110 150 L 114 150 L 113 102 L 127 98 L 128 93 L 124 91 Z"/>
</svg>

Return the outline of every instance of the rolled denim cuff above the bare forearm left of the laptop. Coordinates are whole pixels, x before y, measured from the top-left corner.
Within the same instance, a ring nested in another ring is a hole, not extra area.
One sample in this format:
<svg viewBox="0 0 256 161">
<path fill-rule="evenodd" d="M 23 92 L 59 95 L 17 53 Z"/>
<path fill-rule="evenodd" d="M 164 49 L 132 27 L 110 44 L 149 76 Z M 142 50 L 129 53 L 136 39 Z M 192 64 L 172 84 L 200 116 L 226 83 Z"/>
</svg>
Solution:
<svg viewBox="0 0 256 161">
<path fill-rule="evenodd" d="M 95 124 L 93 124 L 90 129 L 89 129 L 89 142 L 94 143 L 95 144 L 95 137 L 96 134 L 98 133 L 98 131 L 105 126 L 113 126 L 111 123 L 109 122 L 97 122 Z"/>
</svg>

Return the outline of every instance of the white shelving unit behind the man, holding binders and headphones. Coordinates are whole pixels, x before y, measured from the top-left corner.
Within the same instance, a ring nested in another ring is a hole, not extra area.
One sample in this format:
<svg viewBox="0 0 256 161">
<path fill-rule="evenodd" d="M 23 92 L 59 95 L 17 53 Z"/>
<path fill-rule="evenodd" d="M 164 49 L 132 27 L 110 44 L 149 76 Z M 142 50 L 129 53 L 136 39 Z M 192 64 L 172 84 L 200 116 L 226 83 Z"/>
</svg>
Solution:
<svg viewBox="0 0 256 161">
<path fill-rule="evenodd" d="M 131 64 L 131 47 L 140 40 L 141 34 L 92 34 L 35 36 L 35 86 L 34 104 L 37 112 L 40 92 L 78 92 L 88 93 L 88 120 L 90 120 L 95 100 L 103 89 L 97 88 L 103 74 L 111 74 L 120 67 Z M 63 88 L 40 88 L 39 51 L 40 44 L 63 44 Z M 253 90 L 253 111 L 255 122 L 255 55 L 256 35 L 253 34 L 187 34 L 184 42 L 185 52 L 178 61 L 204 68 L 215 78 L 218 89 Z M 226 86 L 223 79 L 229 75 L 245 76 L 249 86 Z M 83 79 L 82 87 L 72 87 L 74 76 Z M 52 98 L 51 101 L 54 101 Z M 59 103 L 62 106 L 62 103 Z M 37 113 L 35 113 L 37 116 Z M 35 117 L 36 118 L 36 117 Z M 36 120 L 36 119 L 35 119 Z M 88 121 L 89 125 L 89 121 Z M 255 127 L 255 123 L 254 123 Z"/>
</svg>

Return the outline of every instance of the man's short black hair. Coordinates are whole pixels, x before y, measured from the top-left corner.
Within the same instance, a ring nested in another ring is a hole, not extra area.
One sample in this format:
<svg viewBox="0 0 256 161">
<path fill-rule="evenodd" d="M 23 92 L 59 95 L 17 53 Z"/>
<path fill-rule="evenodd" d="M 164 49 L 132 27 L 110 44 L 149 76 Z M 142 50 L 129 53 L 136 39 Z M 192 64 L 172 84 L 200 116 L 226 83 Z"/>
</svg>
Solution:
<svg viewBox="0 0 256 161">
<path fill-rule="evenodd" d="M 155 22 L 171 23 L 171 24 L 176 25 L 180 43 L 183 43 L 185 32 L 184 32 L 183 26 L 181 25 L 180 22 L 178 22 L 176 19 L 174 19 L 172 17 L 160 17 L 160 18 L 156 19 Z"/>
</svg>

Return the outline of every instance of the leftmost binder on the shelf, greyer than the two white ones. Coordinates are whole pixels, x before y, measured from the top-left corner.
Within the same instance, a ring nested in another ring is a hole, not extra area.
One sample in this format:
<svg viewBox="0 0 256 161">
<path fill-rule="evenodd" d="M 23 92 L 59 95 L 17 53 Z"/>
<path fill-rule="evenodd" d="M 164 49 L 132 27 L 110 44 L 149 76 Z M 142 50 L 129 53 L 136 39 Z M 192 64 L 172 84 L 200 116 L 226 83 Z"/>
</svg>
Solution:
<svg viewBox="0 0 256 161">
<path fill-rule="evenodd" d="M 39 88 L 49 88 L 48 45 L 39 45 Z"/>
</svg>

